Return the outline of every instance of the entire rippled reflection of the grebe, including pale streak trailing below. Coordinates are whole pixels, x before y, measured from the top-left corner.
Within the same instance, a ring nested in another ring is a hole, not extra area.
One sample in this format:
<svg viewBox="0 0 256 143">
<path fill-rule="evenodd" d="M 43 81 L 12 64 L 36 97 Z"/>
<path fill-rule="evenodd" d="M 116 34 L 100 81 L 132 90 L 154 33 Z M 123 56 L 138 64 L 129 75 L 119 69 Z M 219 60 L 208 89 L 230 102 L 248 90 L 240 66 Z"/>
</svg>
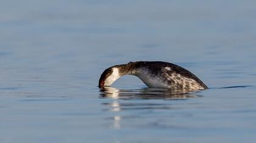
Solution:
<svg viewBox="0 0 256 143">
<path fill-rule="evenodd" d="M 137 90 L 119 90 L 114 87 L 104 87 L 99 91 L 99 98 L 110 98 L 107 102 L 103 102 L 106 108 L 104 111 L 111 111 L 113 115 L 110 118 L 110 127 L 119 129 L 122 127 L 122 122 L 125 119 L 140 118 L 139 116 L 121 116 L 127 110 L 178 110 L 180 107 L 163 102 L 138 102 L 141 99 L 171 99 L 184 100 L 196 97 L 197 92 L 187 90 L 168 90 L 162 88 L 141 88 Z M 130 99 L 138 99 L 129 101 Z"/>
</svg>

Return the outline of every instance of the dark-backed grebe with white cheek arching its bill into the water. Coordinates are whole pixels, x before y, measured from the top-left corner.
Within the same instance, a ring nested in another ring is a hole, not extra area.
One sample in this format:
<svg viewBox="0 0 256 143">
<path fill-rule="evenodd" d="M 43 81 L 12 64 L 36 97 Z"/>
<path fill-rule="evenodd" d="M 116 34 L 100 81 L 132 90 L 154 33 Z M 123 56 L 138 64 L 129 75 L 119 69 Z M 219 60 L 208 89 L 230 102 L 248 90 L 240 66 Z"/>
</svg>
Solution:
<svg viewBox="0 0 256 143">
<path fill-rule="evenodd" d="M 138 61 L 107 68 L 99 78 L 99 88 L 110 86 L 123 75 L 134 75 L 148 87 L 203 90 L 207 86 L 193 73 L 176 64 Z"/>
</svg>

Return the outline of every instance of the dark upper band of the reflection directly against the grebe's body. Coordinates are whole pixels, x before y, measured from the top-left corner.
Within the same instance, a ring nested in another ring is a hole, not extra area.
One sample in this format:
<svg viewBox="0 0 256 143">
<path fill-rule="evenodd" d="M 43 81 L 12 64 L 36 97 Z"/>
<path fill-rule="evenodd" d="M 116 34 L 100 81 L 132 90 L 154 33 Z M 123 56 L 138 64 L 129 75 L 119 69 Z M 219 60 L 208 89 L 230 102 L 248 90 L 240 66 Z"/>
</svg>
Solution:
<svg viewBox="0 0 256 143">
<path fill-rule="evenodd" d="M 200 91 L 200 90 L 199 90 Z M 113 99 L 188 99 L 194 98 L 199 91 L 163 89 L 163 88 L 141 88 L 137 90 L 119 90 L 114 87 L 100 89 L 101 98 Z"/>
</svg>

